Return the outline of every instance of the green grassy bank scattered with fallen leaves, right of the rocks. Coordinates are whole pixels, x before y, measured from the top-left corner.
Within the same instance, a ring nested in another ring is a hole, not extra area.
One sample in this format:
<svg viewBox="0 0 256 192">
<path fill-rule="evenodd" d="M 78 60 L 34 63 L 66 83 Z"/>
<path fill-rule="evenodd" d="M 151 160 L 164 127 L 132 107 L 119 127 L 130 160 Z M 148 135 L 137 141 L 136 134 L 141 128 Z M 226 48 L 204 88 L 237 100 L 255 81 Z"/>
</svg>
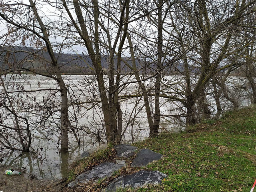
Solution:
<svg viewBox="0 0 256 192">
<path fill-rule="evenodd" d="M 134 191 L 248 192 L 256 178 L 256 110 L 230 112 L 188 132 L 161 134 L 134 145 L 163 154 L 146 169 L 168 174 L 161 186 Z"/>
</svg>

